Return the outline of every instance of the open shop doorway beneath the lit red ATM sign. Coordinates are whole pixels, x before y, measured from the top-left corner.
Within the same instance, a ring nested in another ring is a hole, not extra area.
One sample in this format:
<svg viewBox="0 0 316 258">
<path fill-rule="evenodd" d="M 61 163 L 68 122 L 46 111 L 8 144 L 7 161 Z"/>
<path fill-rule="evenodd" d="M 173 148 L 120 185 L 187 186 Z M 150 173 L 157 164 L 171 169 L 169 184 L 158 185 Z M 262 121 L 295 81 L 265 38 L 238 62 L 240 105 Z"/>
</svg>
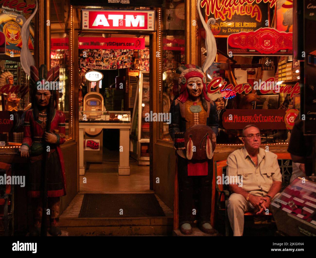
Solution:
<svg viewBox="0 0 316 258">
<path fill-rule="evenodd" d="M 85 173 L 80 175 L 80 192 L 150 192 L 149 121 L 145 121 L 151 94 L 150 36 L 81 33 L 78 42 L 79 123 L 85 119 L 93 123 L 84 129 Z M 85 76 L 91 71 L 99 72 L 98 81 Z M 94 124 L 104 125 L 103 129 L 94 129 Z M 128 137 L 122 138 L 122 124 L 130 124 Z M 121 174 L 121 155 L 127 151 L 129 173 Z"/>
</svg>

